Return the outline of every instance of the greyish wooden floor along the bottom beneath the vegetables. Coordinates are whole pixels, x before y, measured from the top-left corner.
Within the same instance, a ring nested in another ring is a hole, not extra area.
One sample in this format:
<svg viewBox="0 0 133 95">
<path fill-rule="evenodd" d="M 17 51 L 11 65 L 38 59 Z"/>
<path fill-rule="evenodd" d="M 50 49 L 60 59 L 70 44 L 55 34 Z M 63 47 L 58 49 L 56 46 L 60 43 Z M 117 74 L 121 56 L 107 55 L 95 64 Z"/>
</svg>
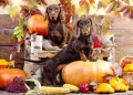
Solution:
<svg viewBox="0 0 133 95">
<path fill-rule="evenodd" d="M 0 91 L 0 95 L 24 95 L 24 94 L 14 94 L 14 93 L 7 93 L 4 91 Z M 35 94 L 32 94 L 32 95 L 35 95 Z M 40 94 L 40 95 L 47 95 L 47 94 Z M 48 95 L 52 95 L 52 94 L 48 94 Z M 71 93 L 71 94 L 62 94 L 62 95 L 133 95 L 133 91 L 122 92 L 122 93 L 114 93 L 114 94 Z"/>
</svg>

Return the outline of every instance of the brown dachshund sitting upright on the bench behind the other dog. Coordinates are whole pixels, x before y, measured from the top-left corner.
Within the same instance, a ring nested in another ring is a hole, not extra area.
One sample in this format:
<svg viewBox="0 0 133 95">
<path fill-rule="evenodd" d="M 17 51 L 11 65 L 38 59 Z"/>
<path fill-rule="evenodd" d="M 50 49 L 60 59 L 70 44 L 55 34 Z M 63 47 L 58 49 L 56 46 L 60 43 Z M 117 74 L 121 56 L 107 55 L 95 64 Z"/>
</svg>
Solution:
<svg viewBox="0 0 133 95">
<path fill-rule="evenodd" d="M 49 20 L 48 36 L 53 46 L 64 48 L 64 44 L 70 43 L 72 39 L 71 31 L 64 25 L 65 15 L 62 8 L 58 4 L 47 7 L 44 20 Z"/>
</svg>

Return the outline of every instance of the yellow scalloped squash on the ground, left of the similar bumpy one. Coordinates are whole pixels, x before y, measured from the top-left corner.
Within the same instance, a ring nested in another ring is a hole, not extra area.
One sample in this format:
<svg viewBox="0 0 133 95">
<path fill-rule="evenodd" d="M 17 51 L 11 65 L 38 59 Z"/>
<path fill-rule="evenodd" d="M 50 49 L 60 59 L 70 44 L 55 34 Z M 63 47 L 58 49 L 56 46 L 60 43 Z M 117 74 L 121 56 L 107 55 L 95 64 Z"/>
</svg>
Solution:
<svg viewBox="0 0 133 95">
<path fill-rule="evenodd" d="M 109 83 L 101 83 L 94 93 L 114 93 L 115 89 Z"/>
</svg>

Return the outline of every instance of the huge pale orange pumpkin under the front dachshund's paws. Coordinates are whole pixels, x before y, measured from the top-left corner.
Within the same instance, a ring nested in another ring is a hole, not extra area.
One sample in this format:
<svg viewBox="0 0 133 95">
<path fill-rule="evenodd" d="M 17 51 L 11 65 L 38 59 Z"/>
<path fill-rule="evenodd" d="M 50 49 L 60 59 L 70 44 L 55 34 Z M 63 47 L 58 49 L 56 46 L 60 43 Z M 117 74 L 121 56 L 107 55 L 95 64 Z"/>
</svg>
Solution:
<svg viewBox="0 0 133 95">
<path fill-rule="evenodd" d="M 105 76 L 113 75 L 112 64 L 102 60 L 96 62 L 75 61 L 62 70 L 62 78 L 68 84 L 79 86 L 82 83 L 106 82 Z"/>
</svg>

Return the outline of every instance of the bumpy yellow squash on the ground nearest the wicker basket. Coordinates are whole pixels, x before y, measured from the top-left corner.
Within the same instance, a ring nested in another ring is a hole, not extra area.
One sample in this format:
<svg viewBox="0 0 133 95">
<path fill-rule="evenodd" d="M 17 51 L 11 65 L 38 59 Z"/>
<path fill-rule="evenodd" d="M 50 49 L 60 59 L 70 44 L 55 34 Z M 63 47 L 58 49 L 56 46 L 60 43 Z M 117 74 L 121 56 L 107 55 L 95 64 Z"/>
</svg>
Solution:
<svg viewBox="0 0 133 95">
<path fill-rule="evenodd" d="M 115 91 L 121 91 L 121 92 L 129 91 L 129 85 L 126 81 L 124 81 L 123 78 L 112 77 L 109 83 Z"/>
</svg>

